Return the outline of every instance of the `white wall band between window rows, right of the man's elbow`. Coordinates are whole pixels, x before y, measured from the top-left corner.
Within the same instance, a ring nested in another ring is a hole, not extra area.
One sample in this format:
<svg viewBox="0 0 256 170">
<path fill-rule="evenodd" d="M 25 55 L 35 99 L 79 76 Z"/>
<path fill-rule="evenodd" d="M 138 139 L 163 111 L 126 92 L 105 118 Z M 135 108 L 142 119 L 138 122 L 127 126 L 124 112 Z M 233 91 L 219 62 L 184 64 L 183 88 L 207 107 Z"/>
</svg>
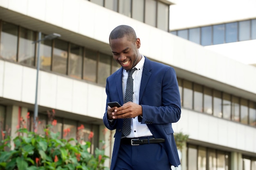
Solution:
<svg viewBox="0 0 256 170">
<path fill-rule="evenodd" d="M 173 129 L 189 135 L 189 139 L 256 153 L 255 127 L 182 109 L 181 118 L 173 124 Z"/>
</svg>

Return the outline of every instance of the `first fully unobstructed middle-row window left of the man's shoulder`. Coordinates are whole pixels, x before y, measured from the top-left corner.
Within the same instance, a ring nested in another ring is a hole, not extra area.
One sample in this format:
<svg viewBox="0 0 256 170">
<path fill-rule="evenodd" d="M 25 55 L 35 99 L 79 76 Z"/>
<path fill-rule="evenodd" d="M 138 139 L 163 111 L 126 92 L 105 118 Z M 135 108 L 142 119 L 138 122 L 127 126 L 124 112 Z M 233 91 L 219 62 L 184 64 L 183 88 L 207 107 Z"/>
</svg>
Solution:
<svg viewBox="0 0 256 170">
<path fill-rule="evenodd" d="M 83 60 L 83 79 L 96 83 L 97 77 L 97 52 L 85 50 Z"/>
</svg>

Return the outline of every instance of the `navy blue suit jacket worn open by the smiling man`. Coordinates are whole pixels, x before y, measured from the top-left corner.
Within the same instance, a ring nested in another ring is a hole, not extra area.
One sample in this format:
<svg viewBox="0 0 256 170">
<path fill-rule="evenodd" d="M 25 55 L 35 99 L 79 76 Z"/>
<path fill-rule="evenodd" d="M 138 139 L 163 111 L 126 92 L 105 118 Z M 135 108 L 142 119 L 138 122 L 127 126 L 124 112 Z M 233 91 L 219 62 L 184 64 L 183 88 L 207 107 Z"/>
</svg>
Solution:
<svg viewBox="0 0 256 170">
<path fill-rule="evenodd" d="M 124 104 L 122 72 L 123 68 L 120 68 L 107 78 L 107 102 L 117 101 L 121 105 Z M 142 106 L 143 112 L 141 123 L 147 124 L 155 138 L 165 139 L 163 146 L 168 155 L 169 162 L 173 166 L 180 165 L 171 123 L 177 122 L 180 119 L 181 104 L 177 77 L 172 67 L 150 61 L 145 57 L 139 92 L 139 105 Z M 103 122 L 108 129 L 116 129 L 110 167 L 112 170 L 117 160 L 123 119 L 116 119 L 110 123 L 107 118 L 107 108 L 108 105 L 106 105 Z"/>
</svg>

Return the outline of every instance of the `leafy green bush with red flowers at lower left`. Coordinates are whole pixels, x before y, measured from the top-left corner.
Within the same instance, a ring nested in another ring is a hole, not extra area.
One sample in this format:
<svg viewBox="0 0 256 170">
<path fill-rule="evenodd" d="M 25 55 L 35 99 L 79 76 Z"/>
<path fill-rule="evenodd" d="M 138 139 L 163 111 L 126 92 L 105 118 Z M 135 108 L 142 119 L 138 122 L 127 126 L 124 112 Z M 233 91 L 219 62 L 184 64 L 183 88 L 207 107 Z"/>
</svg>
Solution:
<svg viewBox="0 0 256 170">
<path fill-rule="evenodd" d="M 13 139 L 8 136 L 0 144 L 1 170 L 108 170 L 104 161 L 108 158 L 104 150 L 96 148 L 95 154 L 88 152 L 91 143 L 81 144 L 76 139 L 59 139 L 60 133 L 44 129 L 45 135 L 19 129 Z M 75 142 L 75 145 L 70 142 Z"/>
</svg>

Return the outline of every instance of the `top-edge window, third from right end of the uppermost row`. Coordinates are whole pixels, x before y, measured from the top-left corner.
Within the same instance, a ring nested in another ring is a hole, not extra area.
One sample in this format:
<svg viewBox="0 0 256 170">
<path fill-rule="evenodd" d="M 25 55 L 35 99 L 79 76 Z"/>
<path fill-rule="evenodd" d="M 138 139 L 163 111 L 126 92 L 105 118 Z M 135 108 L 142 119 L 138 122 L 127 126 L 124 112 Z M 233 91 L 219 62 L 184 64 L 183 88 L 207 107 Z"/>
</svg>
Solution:
<svg viewBox="0 0 256 170">
<path fill-rule="evenodd" d="M 132 18 L 144 22 L 144 0 L 132 0 Z"/>
</svg>

